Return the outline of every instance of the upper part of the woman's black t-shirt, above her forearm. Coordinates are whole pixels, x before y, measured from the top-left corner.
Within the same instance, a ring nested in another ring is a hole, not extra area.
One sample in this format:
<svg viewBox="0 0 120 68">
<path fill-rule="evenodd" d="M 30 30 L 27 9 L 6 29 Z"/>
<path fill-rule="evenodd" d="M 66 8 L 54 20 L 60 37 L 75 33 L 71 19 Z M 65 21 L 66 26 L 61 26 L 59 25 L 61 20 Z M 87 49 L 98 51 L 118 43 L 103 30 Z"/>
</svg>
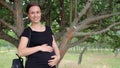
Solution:
<svg viewBox="0 0 120 68">
<path fill-rule="evenodd" d="M 33 31 L 30 27 L 25 28 L 21 36 L 27 38 L 31 37 L 28 47 L 34 47 L 42 44 L 48 44 L 49 46 L 52 46 L 53 41 L 52 35 L 53 33 L 51 31 L 51 28 L 45 26 L 45 31 L 43 32 Z"/>
</svg>

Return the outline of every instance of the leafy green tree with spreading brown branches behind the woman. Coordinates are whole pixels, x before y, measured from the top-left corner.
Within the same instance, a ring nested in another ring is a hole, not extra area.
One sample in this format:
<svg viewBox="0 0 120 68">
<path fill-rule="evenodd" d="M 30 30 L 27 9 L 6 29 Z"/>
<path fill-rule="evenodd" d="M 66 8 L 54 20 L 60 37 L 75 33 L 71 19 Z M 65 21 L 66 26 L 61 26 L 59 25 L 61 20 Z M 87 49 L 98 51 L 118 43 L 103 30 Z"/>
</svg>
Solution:
<svg viewBox="0 0 120 68">
<path fill-rule="evenodd" d="M 26 3 L 31 1 L 0 0 L 0 39 L 18 46 L 18 38 L 25 27 L 23 22 L 28 21 L 24 7 Z M 70 47 L 82 42 L 90 42 L 91 39 L 95 40 L 94 35 L 106 34 L 116 30 L 116 27 L 119 28 L 120 22 L 117 21 L 119 19 L 117 15 L 120 14 L 118 12 L 119 3 L 114 0 L 35 1 L 40 3 L 44 11 L 42 21 L 45 21 L 49 26 L 52 26 L 51 22 L 56 22 L 59 25 L 55 38 L 60 42 L 61 59 Z M 115 20 L 115 16 L 117 20 Z M 56 26 L 54 26 L 55 28 Z M 8 34 L 10 30 L 15 33 L 16 37 Z M 71 43 L 73 38 L 78 40 Z"/>
</svg>

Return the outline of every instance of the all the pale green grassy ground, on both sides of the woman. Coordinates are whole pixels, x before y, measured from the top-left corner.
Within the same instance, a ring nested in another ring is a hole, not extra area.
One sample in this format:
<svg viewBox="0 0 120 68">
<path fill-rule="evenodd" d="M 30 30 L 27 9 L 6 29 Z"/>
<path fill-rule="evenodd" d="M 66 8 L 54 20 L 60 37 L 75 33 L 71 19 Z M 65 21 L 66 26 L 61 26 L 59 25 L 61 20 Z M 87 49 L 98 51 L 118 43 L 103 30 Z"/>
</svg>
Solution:
<svg viewBox="0 0 120 68">
<path fill-rule="evenodd" d="M 0 52 L 0 68 L 11 68 L 15 51 Z M 67 53 L 59 68 L 120 68 L 120 55 L 114 57 L 112 52 L 87 51 L 83 55 L 82 63 L 77 64 L 78 53 Z"/>
</svg>

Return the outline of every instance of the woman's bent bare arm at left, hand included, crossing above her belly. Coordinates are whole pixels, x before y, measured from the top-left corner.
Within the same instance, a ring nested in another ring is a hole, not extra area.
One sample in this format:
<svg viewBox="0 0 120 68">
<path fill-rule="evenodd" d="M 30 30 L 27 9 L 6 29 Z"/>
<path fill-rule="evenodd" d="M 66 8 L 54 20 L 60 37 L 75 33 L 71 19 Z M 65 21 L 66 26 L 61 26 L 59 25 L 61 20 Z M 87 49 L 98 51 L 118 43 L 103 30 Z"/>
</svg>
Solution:
<svg viewBox="0 0 120 68">
<path fill-rule="evenodd" d="M 18 47 L 18 55 L 19 56 L 28 56 L 28 55 L 33 54 L 38 51 L 51 52 L 53 50 L 52 47 L 47 46 L 47 44 L 28 48 L 27 43 L 28 43 L 28 38 L 21 37 L 19 47 Z"/>
</svg>

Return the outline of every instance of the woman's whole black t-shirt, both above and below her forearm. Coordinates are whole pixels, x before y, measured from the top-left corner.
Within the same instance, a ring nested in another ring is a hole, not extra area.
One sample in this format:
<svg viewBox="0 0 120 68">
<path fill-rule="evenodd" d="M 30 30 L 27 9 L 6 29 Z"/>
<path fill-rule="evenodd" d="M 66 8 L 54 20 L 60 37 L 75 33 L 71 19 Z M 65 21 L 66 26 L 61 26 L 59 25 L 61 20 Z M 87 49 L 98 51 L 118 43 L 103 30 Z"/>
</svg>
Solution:
<svg viewBox="0 0 120 68">
<path fill-rule="evenodd" d="M 31 32 L 30 32 L 31 31 Z M 50 27 L 45 26 L 45 31 L 38 32 L 33 31 L 30 27 L 25 28 L 21 37 L 30 38 L 28 47 L 41 46 L 42 44 L 48 44 L 52 46 L 53 33 Z M 55 52 L 43 52 L 38 51 L 27 56 L 26 68 L 52 68 L 48 65 L 48 60 L 52 59 L 51 56 L 55 55 Z"/>
</svg>

